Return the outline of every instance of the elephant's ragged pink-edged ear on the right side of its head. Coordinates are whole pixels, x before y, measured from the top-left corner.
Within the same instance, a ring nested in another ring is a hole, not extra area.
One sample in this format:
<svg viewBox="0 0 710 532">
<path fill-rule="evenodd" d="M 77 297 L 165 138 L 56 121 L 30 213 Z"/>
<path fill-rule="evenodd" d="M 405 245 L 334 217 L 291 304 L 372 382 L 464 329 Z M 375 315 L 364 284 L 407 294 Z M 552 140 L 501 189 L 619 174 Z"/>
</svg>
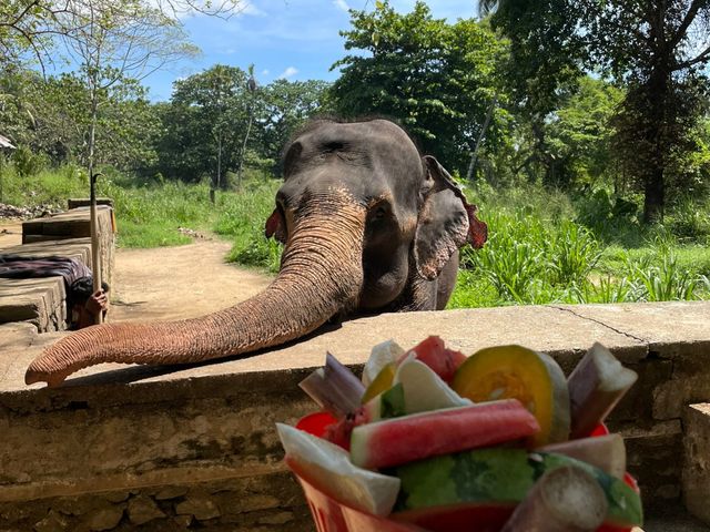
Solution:
<svg viewBox="0 0 710 532">
<path fill-rule="evenodd" d="M 454 183 L 449 173 L 430 155 L 424 156 L 428 192 L 419 213 L 414 241 L 414 258 L 419 275 L 435 279 L 456 249 L 469 243 L 483 247 L 486 224 L 476 217 L 476 206 Z"/>
</svg>

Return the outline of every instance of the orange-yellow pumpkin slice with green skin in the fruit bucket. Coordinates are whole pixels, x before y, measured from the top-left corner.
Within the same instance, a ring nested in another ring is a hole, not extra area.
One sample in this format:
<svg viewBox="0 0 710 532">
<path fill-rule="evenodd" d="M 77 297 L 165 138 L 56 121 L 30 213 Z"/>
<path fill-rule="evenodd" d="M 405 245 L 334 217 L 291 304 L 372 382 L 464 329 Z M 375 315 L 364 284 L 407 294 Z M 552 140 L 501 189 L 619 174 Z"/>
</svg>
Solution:
<svg viewBox="0 0 710 532">
<path fill-rule="evenodd" d="M 452 388 L 474 402 L 514 398 L 537 418 L 532 447 L 565 441 L 569 434 L 569 393 L 565 374 L 544 352 L 501 346 L 475 352 L 458 368 Z"/>
</svg>

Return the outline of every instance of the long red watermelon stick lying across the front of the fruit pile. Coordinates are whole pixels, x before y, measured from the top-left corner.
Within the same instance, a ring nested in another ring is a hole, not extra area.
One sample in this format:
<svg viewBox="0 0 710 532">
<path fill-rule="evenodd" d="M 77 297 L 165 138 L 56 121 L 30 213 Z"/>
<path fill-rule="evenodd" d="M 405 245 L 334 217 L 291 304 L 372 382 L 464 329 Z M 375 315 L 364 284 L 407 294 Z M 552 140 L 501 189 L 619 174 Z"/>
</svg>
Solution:
<svg viewBox="0 0 710 532">
<path fill-rule="evenodd" d="M 517 399 L 481 402 L 355 427 L 351 460 L 361 468 L 388 468 L 527 438 L 538 430 L 535 417 Z"/>
</svg>

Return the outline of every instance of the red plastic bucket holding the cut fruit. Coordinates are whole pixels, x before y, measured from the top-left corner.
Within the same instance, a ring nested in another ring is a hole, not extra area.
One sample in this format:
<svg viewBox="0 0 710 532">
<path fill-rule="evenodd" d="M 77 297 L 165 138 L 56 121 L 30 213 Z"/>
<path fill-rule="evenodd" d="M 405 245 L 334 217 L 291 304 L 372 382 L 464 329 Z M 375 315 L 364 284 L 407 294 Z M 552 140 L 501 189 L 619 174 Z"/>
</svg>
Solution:
<svg viewBox="0 0 710 532">
<path fill-rule="evenodd" d="M 327 427 L 335 421 L 336 419 L 327 412 L 315 412 L 301 418 L 296 423 L 296 428 L 321 438 Z M 599 426 L 591 436 L 604 436 L 608 433 L 609 430 L 606 426 Z M 297 466 L 288 460 L 288 457 L 286 457 L 285 461 L 303 489 L 317 532 L 426 532 L 425 529 L 414 524 L 378 518 L 339 503 L 305 480 L 304 475 L 298 471 Z M 629 473 L 626 474 L 623 480 L 637 492 L 639 491 L 636 480 Z M 489 524 L 495 521 L 500 521 L 500 519 L 491 519 Z M 505 519 L 503 519 L 503 522 L 505 522 Z M 470 530 L 478 530 L 473 529 L 473 524 L 474 523 L 471 523 Z M 446 530 L 452 529 L 447 526 Z M 486 532 L 495 532 L 499 530 L 499 526 L 484 526 L 483 530 L 486 530 Z M 631 532 L 631 530 L 632 529 L 604 525 L 599 528 L 597 532 Z"/>
</svg>

